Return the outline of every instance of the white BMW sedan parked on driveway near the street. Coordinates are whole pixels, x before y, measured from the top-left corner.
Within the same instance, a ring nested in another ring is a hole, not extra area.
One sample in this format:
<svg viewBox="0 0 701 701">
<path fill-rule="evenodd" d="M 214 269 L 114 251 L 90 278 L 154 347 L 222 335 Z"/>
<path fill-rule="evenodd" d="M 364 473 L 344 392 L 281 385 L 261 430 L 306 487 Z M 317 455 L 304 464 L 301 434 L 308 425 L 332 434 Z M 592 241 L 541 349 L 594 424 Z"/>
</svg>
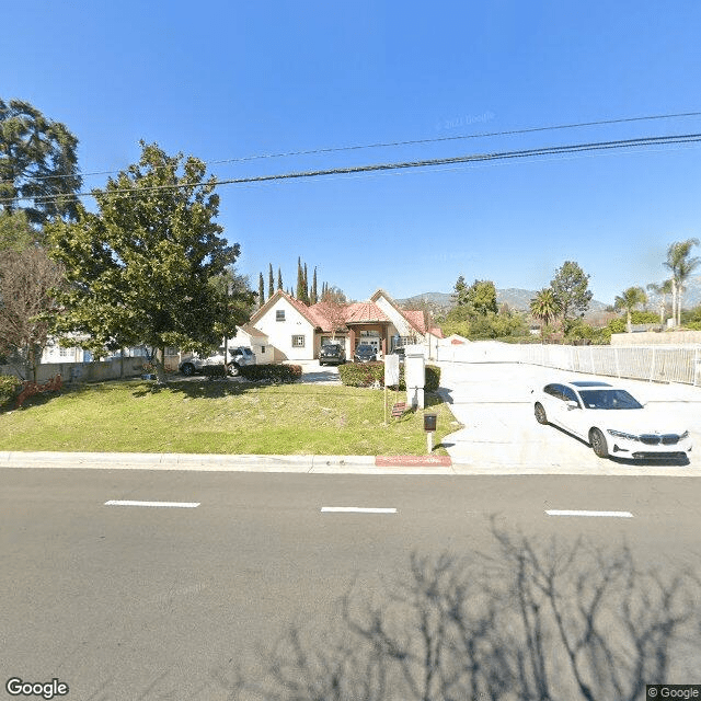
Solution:
<svg viewBox="0 0 701 701">
<path fill-rule="evenodd" d="M 689 432 L 669 414 L 641 404 L 620 387 L 594 380 L 552 382 L 536 394 L 539 424 L 586 440 L 599 458 L 689 458 Z"/>
</svg>

